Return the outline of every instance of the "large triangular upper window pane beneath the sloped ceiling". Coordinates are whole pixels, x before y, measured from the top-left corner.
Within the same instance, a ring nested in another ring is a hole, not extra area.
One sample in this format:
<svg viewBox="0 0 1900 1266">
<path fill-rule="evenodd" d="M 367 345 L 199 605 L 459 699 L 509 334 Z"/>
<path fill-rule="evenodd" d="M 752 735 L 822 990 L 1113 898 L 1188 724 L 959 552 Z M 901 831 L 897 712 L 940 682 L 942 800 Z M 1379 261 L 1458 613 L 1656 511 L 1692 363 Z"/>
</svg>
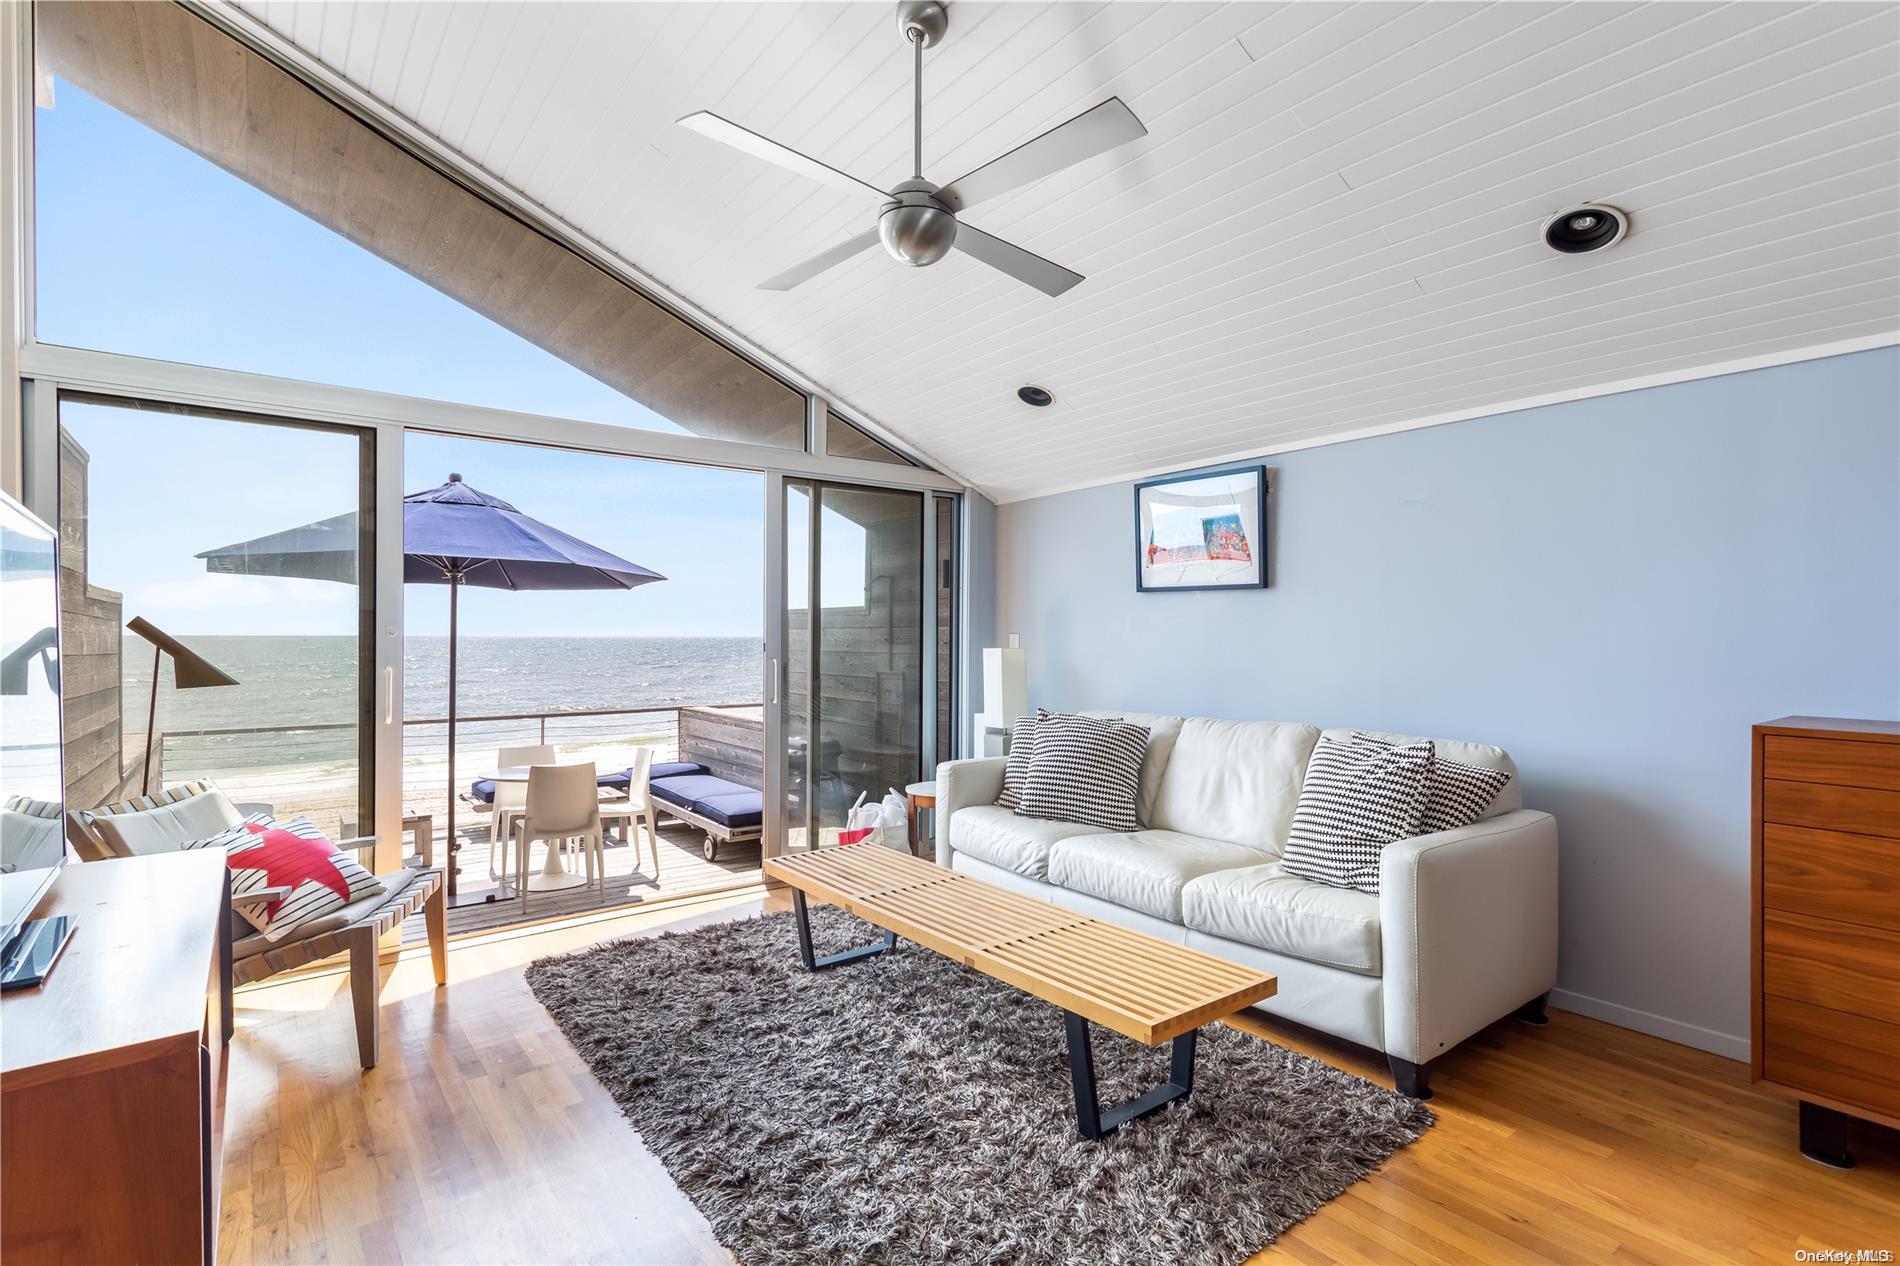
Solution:
<svg viewBox="0 0 1900 1266">
<path fill-rule="evenodd" d="M 36 15 L 42 342 L 806 445 L 800 392 L 186 10 Z"/>
</svg>

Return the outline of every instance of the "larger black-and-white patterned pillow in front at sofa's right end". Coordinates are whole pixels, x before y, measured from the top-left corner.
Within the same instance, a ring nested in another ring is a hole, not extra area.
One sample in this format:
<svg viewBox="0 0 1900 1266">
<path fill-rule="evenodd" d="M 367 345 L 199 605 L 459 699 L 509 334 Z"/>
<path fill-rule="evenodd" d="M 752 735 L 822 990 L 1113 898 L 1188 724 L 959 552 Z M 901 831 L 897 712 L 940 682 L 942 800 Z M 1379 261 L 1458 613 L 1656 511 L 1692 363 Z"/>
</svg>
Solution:
<svg viewBox="0 0 1900 1266">
<path fill-rule="evenodd" d="M 1322 738 L 1300 785 L 1281 865 L 1330 888 L 1379 892 L 1379 852 L 1419 833 L 1433 743 Z"/>
</svg>

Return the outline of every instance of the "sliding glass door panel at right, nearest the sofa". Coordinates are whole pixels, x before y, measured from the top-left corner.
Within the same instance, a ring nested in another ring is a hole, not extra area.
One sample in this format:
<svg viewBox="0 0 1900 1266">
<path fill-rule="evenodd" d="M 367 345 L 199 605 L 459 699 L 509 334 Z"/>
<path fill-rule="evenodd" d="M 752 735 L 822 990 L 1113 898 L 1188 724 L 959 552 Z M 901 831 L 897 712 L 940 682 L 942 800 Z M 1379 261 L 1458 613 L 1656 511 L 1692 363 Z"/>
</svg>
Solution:
<svg viewBox="0 0 1900 1266">
<path fill-rule="evenodd" d="M 925 660 L 939 570 L 925 557 L 931 498 L 781 477 L 773 500 L 768 745 L 779 777 L 766 796 L 768 855 L 834 844 L 855 804 L 925 777 L 925 730 L 937 728 L 925 677 L 939 675 Z"/>
</svg>

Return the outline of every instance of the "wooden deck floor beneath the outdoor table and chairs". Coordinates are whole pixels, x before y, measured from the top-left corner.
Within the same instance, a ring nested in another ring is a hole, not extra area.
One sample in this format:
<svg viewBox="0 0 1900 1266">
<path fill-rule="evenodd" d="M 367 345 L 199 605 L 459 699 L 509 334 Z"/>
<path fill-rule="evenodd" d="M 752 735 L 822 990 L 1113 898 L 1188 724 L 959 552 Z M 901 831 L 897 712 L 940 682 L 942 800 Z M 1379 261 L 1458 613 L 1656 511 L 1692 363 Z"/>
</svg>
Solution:
<svg viewBox="0 0 1900 1266">
<path fill-rule="evenodd" d="M 513 884 L 504 888 L 488 871 L 488 817 L 483 815 L 477 825 L 469 827 L 458 823 L 456 834 L 462 836 L 462 874 L 456 903 L 448 907 L 448 935 L 452 937 L 492 931 L 524 920 L 540 924 L 576 914 L 593 914 L 597 911 L 636 907 L 661 897 L 758 882 L 758 840 L 750 844 L 722 844 L 718 861 L 707 861 L 699 852 L 699 831 L 669 821 L 659 827 L 657 880 L 654 878 L 654 855 L 648 852 L 644 840 L 638 850 L 640 865 L 635 867 L 635 850 L 621 842 L 618 834 L 610 834 L 606 842 L 608 882 L 604 899 L 598 888 L 538 892 L 530 893 L 528 911 L 522 914 Z M 443 855 L 445 842 L 445 838 L 437 838 L 437 857 Z M 545 852 L 536 846 L 534 857 L 530 865 L 540 865 Z M 580 859 L 572 857 L 570 865 L 578 867 Z M 490 901 L 490 897 L 494 899 Z M 422 937 L 422 918 L 410 918 L 403 926 L 403 941 L 414 943 Z"/>
</svg>

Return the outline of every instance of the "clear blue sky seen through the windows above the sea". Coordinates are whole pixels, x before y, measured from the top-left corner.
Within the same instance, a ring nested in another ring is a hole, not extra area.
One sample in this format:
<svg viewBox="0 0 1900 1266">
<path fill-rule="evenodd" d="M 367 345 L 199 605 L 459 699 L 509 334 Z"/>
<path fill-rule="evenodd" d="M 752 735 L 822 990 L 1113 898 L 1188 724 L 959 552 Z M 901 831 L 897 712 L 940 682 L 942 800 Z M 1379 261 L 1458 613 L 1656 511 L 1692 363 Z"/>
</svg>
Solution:
<svg viewBox="0 0 1900 1266">
<path fill-rule="evenodd" d="M 34 116 L 42 342 L 682 430 L 63 80 Z M 352 439 L 72 403 L 63 422 L 93 452 L 91 580 L 127 616 L 198 635 L 355 629 L 346 585 L 207 576 L 194 557 L 352 509 Z M 669 578 L 469 591 L 466 633 L 760 633 L 760 475 L 408 437 L 407 492 L 450 471 Z M 826 603 L 861 601 L 863 536 L 836 527 Z M 410 585 L 407 606 L 410 633 L 446 631 L 439 587 Z"/>
</svg>

